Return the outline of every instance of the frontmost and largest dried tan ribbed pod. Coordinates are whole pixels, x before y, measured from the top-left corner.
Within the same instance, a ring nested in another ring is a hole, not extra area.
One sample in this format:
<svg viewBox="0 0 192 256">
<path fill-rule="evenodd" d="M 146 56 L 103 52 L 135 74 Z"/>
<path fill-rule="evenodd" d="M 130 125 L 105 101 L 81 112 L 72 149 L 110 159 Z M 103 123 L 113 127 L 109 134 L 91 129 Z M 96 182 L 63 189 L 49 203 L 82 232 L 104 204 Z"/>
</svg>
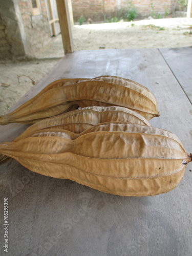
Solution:
<svg viewBox="0 0 192 256">
<path fill-rule="evenodd" d="M 0 152 L 33 172 L 120 196 L 154 196 L 179 184 L 192 157 L 176 135 L 138 124 L 126 124 L 124 132 L 112 126 L 91 127 L 75 139 L 61 132 L 5 142 Z"/>
</svg>

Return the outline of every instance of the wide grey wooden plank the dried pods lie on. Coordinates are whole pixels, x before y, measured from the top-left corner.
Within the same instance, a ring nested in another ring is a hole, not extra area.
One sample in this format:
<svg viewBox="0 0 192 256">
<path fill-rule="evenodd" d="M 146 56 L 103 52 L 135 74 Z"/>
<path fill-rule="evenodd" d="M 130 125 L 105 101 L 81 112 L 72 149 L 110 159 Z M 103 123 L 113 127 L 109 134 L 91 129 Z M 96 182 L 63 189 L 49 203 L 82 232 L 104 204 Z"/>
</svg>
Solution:
<svg viewBox="0 0 192 256">
<path fill-rule="evenodd" d="M 179 136 L 191 151 L 192 108 L 157 49 L 80 51 L 66 55 L 20 103 L 55 79 L 117 75 L 140 82 L 157 98 L 151 124 Z M 1 141 L 25 125 L 0 127 Z M 9 200 L 10 255 L 190 255 L 191 173 L 169 193 L 119 197 L 69 180 L 33 174 L 15 160 L 0 165 L 0 196 Z M 3 200 L 0 201 L 3 216 Z M 3 238 L 3 228 L 1 237 Z M 1 255 L 4 255 L 1 253 Z"/>
</svg>

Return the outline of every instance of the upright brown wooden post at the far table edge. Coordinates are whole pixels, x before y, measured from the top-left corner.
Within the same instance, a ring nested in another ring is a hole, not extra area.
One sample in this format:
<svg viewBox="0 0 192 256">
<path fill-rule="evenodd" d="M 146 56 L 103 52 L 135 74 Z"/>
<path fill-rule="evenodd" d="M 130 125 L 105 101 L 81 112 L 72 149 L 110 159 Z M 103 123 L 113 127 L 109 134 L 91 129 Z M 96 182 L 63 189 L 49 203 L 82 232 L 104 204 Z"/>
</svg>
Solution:
<svg viewBox="0 0 192 256">
<path fill-rule="evenodd" d="M 73 36 L 67 0 L 56 0 L 62 44 L 65 54 L 74 52 Z"/>
</svg>

